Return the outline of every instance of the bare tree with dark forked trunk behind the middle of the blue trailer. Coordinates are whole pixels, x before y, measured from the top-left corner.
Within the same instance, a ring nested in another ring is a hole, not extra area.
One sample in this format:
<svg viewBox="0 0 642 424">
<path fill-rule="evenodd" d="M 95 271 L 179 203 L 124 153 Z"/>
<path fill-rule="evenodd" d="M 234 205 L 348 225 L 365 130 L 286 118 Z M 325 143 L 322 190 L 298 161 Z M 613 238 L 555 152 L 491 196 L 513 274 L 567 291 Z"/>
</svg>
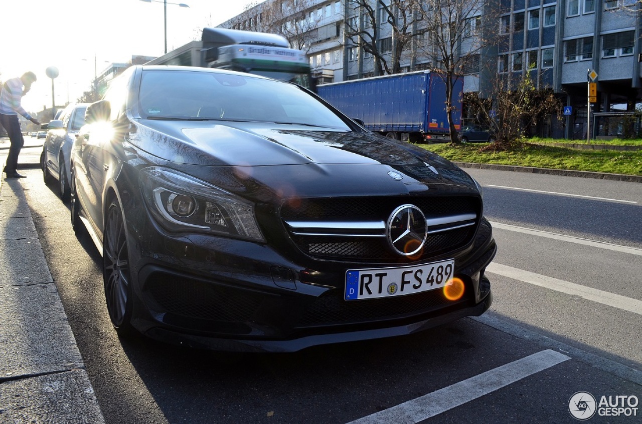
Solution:
<svg viewBox="0 0 642 424">
<path fill-rule="evenodd" d="M 409 0 L 346 0 L 345 36 L 349 44 L 372 55 L 374 74 L 398 74 L 404 50 L 415 37 L 421 15 Z M 387 25 L 386 25 L 387 24 Z M 387 35 L 390 28 L 390 37 Z"/>
</svg>

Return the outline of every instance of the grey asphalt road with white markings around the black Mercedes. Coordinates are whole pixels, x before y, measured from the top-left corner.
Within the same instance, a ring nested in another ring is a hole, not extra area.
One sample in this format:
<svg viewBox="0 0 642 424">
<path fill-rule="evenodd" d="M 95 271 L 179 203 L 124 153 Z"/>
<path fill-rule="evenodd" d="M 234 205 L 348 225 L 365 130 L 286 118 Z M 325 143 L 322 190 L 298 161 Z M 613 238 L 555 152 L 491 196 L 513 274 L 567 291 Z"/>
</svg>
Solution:
<svg viewBox="0 0 642 424">
<path fill-rule="evenodd" d="M 573 423 L 579 391 L 596 403 L 642 398 L 642 184 L 469 170 L 499 246 L 489 313 L 403 338 L 250 355 L 117 338 L 100 254 L 74 236 L 57 188 L 21 172 L 107 423 Z M 589 422 L 637 423 L 635 413 Z"/>
</svg>

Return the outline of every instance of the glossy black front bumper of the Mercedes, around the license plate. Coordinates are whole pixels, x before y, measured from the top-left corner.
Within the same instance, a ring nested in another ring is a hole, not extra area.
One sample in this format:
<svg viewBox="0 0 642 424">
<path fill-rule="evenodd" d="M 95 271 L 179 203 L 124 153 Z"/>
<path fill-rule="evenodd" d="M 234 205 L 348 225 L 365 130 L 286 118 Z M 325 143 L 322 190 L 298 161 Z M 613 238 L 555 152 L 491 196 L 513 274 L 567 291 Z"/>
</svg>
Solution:
<svg viewBox="0 0 642 424">
<path fill-rule="evenodd" d="M 129 231 L 130 246 L 139 247 L 130 249 L 132 263 L 141 264 L 132 275 L 132 325 L 168 343 L 291 352 L 412 334 L 478 316 L 492 301 L 483 272 L 496 245 L 485 220 L 473 246 L 455 258 L 455 276 L 465 284 L 460 300 L 449 301 L 437 289 L 350 302 L 343 300 L 345 270 L 359 268 L 354 263 L 293 263 L 269 246 L 210 236 L 175 238 L 148 223 L 153 230 L 145 225 L 143 232 Z"/>
</svg>

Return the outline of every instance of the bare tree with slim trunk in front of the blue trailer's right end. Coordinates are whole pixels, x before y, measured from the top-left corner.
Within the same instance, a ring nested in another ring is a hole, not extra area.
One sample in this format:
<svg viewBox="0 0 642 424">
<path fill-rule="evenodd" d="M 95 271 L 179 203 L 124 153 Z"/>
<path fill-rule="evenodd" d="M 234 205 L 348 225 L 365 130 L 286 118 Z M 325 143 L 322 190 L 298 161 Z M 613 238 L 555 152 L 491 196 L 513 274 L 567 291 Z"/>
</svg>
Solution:
<svg viewBox="0 0 642 424">
<path fill-rule="evenodd" d="M 457 79 L 467 69 L 479 71 L 482 49 L 492 44 L 498 33 L 496 9 L 492 0 L 408 0 L 422 20 L 424 37 L 417 38 L 417 49 L 432 72 L 446 83 L 446 108 L 451 144 L 458 144 L 453 111 Z"/>
</svg>

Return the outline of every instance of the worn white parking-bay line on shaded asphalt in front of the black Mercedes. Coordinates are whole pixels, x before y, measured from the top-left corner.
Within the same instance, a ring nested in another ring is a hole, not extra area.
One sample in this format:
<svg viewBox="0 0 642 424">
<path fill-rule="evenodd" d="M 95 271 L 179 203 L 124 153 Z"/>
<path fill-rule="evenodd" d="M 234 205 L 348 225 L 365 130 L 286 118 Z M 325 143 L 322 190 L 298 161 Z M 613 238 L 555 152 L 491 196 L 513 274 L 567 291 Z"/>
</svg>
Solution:
<svg viewBox="0 0 642 424">
<path fill-rule="evenodd" d="M 569 359 L 555 350 L 542 350 L 348 424 L 419 423 Z"/>
</svg>

